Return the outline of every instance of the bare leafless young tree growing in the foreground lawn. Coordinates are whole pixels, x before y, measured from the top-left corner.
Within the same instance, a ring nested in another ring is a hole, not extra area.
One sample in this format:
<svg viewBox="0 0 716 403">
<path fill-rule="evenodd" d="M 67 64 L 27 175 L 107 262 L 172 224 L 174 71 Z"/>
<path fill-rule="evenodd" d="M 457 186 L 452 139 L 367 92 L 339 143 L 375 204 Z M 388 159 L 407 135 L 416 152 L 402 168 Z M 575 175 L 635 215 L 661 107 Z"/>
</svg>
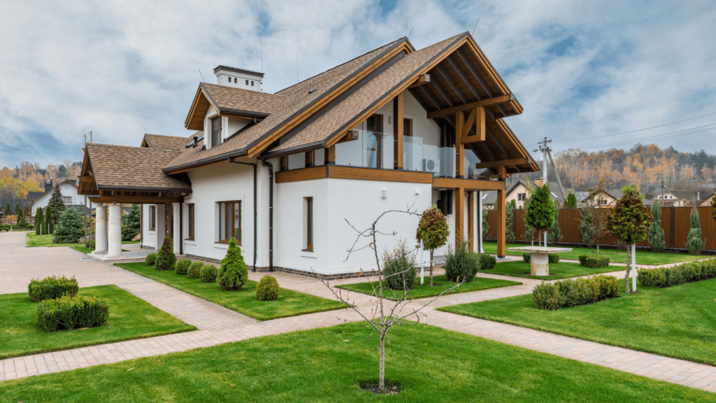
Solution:
<svg viewBox="0 0 716 403">
<path fill-rule="evenodd" d="M 380 219 L 386 214 L 396 213 L 408 214 L 418 217 L 421 216 L 421 214 L 417 214 L 417 212 L 415 212 L 415 210 L 410 209 L 410 207 L 408 207 L 406 210 L 389 210 L 380 214 L 378 218 L 375 219 L 375 221 L 370 225 L 369 228 L 364 229 L 362 231 L 354 227 L 354 225 L 346 219 L 346 222 L 350 225 L 350 227 L 354 229 L 355 232 L 357 232 L 356 240 L 353 242 L 352 247 L 347 250 L 348 256 L 346 257 L 346 260 L 350 258 L 350 255 L 353 252 L 357 252 L 359 250 L 372 250 L 375 258 L 375 264 L 377 267 L 376 270 L 372 272 L 364 272 L 363 270 L 361 270 L 362 274 L 366 276 L 368 283 L 372 286 L 370 303 L 374 305 L 372 306 L 369 313 L 361 310 L 357 305 L 356 301 L 350 299 L 349 290 L 344 295 L 343 290 L 336 290 L 335 288 L 332 288 L 327 280 L 322 278 L 314 271 L 315 277 L 321 280 L 321 283 L 323 283 L 329 290 L 331 290 L 337 300 L 342 303 L 346 303 L 348 305 L 347 309 L 354 310 L 359 316 L 362 317 L 364 321 L 367 321 L 366 327 L 372 328 L 371 336 L 373 335 L 373 333 L 378 333 L 380 341 L 378 389 L 380 393 L 385 392 L 385 339 L 389 338 L 390 340 L 390 336 L 388 336 L 388 331 L 390 331 L 391 328 L 403 324 L 416 326 L 420 323 L 423 323 L 423 326 L 425 326 L 427 316 L 425 316 L 425 313 L 423 313 L 422 310 L 425 309 L 427 305 L 430 305 L 432 302 L 437 300 L 437 298 L 440 298 L 445 293 L 448 293 L 450 290 L 459 287 L 464 281 L 458 279 L 458 282 L 455 283 L 453 287 L 443 290 L 442 293 L 440 293 L 439 295 L 436 295 L 432 298 L 426 298 L 427 300 L 422 301 L 419 305 L 408 306 L 413 300 L 410 297 L 410 291 L 412 289 L 412 286 L 409 285 L 411 283 L 415 283 L 415 268 L 412 267 L 412 263 L 410 265 L 407 265 L 407 267 L 401 265 L 400 268 L 391 267 L 391 265 L 400 265 L 400 262 L 405 262 L 406 260 L 408 262 L 413 262 L 414 256 L 410 255 L 415 253 L 415 251 L 411 251 L 409 250 L 409 248 L 405 247 L 405 240 L 400 240 L 398 242 L 397 247 L 392 250 L 392 253 L 388 252 L 388 255 L 392 255 L 392 258 L 390 260 L 386 260 L 386 262 L 388 262 L 387 266 L 385 266 L 384 263 L 382 264 L 378 254 L 377 235 L 396 236 L 397 232 L 381 232 L 377 229 L 377 224 Z M 388 272 L 390 272 L 390 274 Z M 410 278 L 411 275 L 413 276 L 413 278 Z M 403 290 L 398 290 L 398 292 L 396 293 L 395 288 L 390 289 L 390 293 L 392 293 L 392 298 L 394 300 L 385 300 L 383 298 L 384 285 L 387 285 L 387 283 L 392 278 L 394 278 L 394 276 L 400 278 L 400 283 L 402 283 L 403 285 Z M 387 302 L 390 302 L 391 306 L 387 306 Z M 339 318 L 339 320 L 348 322 L 347 319 Z"/>
</svg>

